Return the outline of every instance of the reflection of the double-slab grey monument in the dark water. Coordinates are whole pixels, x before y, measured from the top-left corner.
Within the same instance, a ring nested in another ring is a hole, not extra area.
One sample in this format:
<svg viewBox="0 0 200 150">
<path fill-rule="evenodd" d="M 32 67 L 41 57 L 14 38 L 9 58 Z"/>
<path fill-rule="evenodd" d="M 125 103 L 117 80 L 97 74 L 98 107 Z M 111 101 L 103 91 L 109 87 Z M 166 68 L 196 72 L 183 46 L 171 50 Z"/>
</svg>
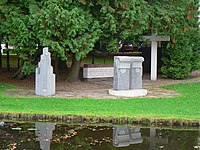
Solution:
<svg viewBox="0 0 200 150">
<path fill-rule="evenodd" d="M 130 144 L 142 143 L 140 128 L 115 126 L 113 128 L 113 146 L 126 147 Z"/>
</svg>

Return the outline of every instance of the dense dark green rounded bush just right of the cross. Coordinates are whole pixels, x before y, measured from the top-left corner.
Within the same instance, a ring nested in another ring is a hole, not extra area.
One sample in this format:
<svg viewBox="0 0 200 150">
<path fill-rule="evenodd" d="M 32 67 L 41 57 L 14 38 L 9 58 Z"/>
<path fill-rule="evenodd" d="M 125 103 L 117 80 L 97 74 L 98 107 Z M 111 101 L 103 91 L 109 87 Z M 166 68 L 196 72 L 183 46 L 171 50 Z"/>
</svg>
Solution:
<svg viewBox="0 0 200 150">
<path fill-rule="evenodd" d="M 164 52 L 164 66 L 161 68 L 163 76 L 172 79 L 187 78 L 192 71 L 192 58 L 193 51 L 188 36 L 176 36 Z"/>
</svg>

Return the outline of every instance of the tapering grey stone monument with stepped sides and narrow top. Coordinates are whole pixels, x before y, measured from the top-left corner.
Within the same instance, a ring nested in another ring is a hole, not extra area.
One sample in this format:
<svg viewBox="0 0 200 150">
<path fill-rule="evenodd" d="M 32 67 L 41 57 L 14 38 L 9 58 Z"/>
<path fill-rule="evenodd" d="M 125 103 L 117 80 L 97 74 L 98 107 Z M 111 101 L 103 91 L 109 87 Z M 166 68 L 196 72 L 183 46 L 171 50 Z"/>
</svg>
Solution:
<svg viewBox="0 0 200 150">
<path fill-rule="evenodd" d="M 55 95 L 55 74 L 51 66 L 51 54 L 48 47 L 43 48 L 41 60 L 36 68 L 35 94 L 39 96 Z"/>
</svg>

